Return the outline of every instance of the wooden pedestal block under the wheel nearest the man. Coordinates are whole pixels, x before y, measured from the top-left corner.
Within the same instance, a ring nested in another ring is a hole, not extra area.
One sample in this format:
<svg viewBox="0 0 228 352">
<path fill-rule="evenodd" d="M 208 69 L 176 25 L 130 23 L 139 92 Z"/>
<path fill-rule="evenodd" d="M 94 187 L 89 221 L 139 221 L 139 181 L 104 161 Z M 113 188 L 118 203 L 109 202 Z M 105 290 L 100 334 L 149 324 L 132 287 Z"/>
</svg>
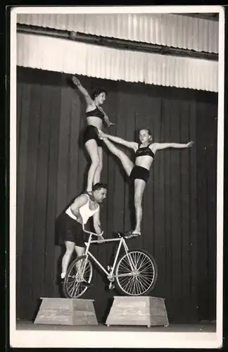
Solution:
<svg viewBox="0 0 228 352">
<path fill-rule="evenodd" d="M 94 300 L 79 298 L 41 298 L 34 324 L 98 325 Z"/>
</svg>

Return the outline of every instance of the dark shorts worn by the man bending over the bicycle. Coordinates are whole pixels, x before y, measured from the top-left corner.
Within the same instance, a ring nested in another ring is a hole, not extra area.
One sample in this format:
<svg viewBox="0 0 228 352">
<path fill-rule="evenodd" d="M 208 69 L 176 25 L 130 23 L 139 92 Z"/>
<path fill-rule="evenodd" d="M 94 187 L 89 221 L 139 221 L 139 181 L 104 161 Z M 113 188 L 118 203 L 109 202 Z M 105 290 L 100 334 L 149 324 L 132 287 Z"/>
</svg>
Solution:
<svg viewBox="0 0 228 352">
<path fill-rule="evenodd" d="M 74 242 L 75 246 L 84 247 L 86 241 L 82 224 L 70 218 L 66 213 L 62 213 L 58 219 L 59 244 L 65 244 L 65 241 Z"/>
</svg>

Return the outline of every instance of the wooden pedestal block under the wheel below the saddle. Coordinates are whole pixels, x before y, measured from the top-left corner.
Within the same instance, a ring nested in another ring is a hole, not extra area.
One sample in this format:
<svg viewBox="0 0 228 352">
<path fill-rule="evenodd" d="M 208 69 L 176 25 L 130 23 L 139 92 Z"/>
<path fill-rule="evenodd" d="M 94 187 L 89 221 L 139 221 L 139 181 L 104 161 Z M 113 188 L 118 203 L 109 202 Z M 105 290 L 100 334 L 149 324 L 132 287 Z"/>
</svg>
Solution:
<svg viewBox="0 0 228 352">
<path fill-rule="evenodd" d="M 165 299 L 149 296 L 114 297 L 106 325 L 169 325 Z"/>
</svg>

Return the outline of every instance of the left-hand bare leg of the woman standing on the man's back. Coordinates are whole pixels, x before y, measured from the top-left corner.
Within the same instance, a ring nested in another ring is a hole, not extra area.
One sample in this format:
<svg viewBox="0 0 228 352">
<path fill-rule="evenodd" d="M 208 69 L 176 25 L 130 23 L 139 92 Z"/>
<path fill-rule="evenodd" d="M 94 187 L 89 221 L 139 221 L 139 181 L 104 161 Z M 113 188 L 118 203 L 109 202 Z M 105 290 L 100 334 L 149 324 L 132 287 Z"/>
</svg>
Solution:
<svg viewBox="0 0 228 352">
<path fill-rule="evenodd" d="M 87 178 L 87 192 L 92 191 L 92 187 L 94 184 L 94 175 L 96 173 L 96 169 L 99 168 L 100 158 L 99 158 L 99 147 L 97 146 L 95 139 L 89 139 L 84 146 L 89 153 L 91 158 L 91 165 L 89 167 L 88 178 Z"/>
</svg>

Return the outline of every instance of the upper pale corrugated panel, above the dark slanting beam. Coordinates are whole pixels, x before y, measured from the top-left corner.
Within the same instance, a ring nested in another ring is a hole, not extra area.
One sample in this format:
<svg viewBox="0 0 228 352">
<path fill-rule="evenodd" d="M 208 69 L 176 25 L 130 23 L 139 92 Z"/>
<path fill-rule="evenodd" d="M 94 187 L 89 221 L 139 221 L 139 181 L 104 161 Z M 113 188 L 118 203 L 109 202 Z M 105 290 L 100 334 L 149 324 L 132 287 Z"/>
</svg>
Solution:
<svg viewBox="0 0 228 352">
<path fill-rule="evenodd" d="M 18 14 L 18 23 L 218 53 L 218 23 L 167 13 Z"/>
</svg>

